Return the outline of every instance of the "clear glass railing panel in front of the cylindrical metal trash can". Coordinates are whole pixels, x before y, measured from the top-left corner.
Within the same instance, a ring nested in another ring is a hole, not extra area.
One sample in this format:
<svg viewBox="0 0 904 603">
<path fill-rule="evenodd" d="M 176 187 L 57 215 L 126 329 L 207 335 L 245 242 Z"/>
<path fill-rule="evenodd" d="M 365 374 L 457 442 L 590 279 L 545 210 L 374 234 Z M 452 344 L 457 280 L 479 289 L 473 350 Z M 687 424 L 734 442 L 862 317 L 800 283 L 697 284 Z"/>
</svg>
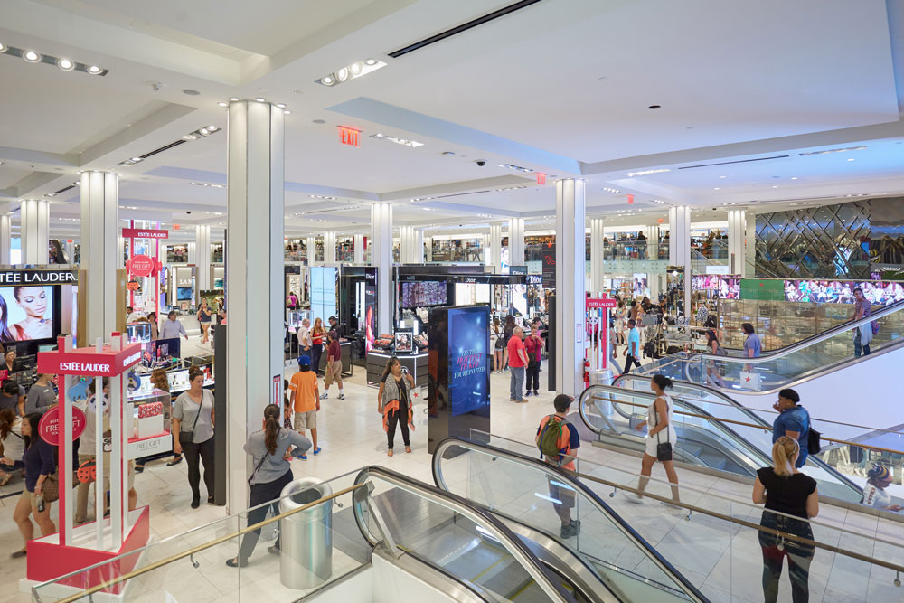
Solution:
<svg viewBox="0 0 904 603">
<path fill-rule="evenodd" d="M 340 492 L 352 486 L 356 474 L 357 472 L 339 476 L 318 486 L 317 495 L 321 492 Z M 311 493 L 301 493 L 302 498 L 306 498 L 306 494 Z M 279 508 L 280 503 L 306 502 L 313 501 L 301 500 L 296 495 L 294 499 L 287 497 L 276 503 Z M 264 504 L 259 508 L 267 510 L 265 516 L 271 519 L 273 512 L 268 507 L 271 504 Z M 258 515 L 255 517 L 255 521 L 262 521 Z M 166 521 L 179 520 L 171 516 Z M 43 583 L 33 589 L 33 596 L 40 602 L 76 597 L 74 600 L 88 603 L 90 600 L 105 600 L 102 597 L 104 593 L 120 591 L 125 593 L 125 600 L 160 603 L 171 603 L 174 600 L 200 603 L 221 600 L 259 601 L 264 597 L 271 601 L 295 601 L 370 562 L 371 547 L 355 523 L 351 492 L 316 504 L 313 508 L 295 513 L 282 521 L 262 526 L 248 564 L 238 568 L 228 567 L 226 561 L 239 555 L 240 542 L 244 538 L 234 534 L 246 528 L 247 523 L 248 512 L 224 517 L 178 536 L 152 542 L 132 553 Z M 153 511 L 151 528 L 155 529 Z M 280 539 L 282 551 L 269 551 L 276 544 L 277 538 Z M 224 540 L 207 546 L 220 539 Z M 321 543 L 324 546 L 319 546 Z M 308 546 L 310 544 L 318 546 L 313 548 Z M 199 550 L 193 551 L 190 556 L 152 568 L 155 563 L 183 555 L 194 548 Z M 142 569 L 148 570 L 127 579 L 121 586 L 105 589 L 93 598 L 81 594 L 84 589 L 99 582 Z"/>
</svg>

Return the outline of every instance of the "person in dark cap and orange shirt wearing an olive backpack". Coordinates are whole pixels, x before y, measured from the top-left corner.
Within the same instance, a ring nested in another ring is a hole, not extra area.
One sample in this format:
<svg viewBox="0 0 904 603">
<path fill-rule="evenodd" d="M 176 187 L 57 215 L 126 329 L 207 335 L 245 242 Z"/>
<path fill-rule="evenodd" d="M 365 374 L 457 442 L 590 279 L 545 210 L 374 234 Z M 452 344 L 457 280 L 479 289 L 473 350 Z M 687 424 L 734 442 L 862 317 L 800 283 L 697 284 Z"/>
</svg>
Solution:
<svg viewBox="0 0 904 603">
<path fill-rule="evenodd" d="M 540 421 L 540 427 L 537 428 L 537 446 L 540 448 L 544 462 L 557 466 L 572 476 L 576 476 L 577 468 L 574 462 L 575 453 L 573 451 L 580 446 L 580 439 L 578 430 L 566 420 L 568 418 L 568 409 L 571 405 L 571 397 L 560 393 L 555 400 L 552 400 L 552 405 L 556 413 L 543 417 Z M 578 535 L 580 522 L 571 519 L 571 509 L 574 508 L 578 498 L 577 493 L 552 476 L 548 477 L 547 481 L 550 486 L 552 507 L 555 509 L 556 514 L 559 515 L 562 523 L 560 536 L 562 538 L 571 538 Z"/>
</svg>

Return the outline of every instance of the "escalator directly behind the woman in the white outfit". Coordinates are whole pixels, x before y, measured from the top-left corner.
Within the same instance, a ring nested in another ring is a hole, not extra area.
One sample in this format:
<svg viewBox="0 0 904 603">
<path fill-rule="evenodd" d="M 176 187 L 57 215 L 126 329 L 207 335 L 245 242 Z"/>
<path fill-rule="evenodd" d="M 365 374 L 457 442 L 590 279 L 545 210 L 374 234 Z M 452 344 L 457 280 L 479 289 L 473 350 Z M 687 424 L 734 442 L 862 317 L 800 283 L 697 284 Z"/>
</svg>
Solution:
<svg viewBox="0 0 904 603">
<path fill-rule="evenodd" d="M 633 428 L 637 420 L 646 418 L 643 407 L 655 400 L 650 380 L 624 375 L 611 386 L 591 385 L 581 393 L 580 418 L 598 441 L 644 450 L 645 433 Z M 771 426 L 756 413 L 720 391 L 690 382 L 674 382 L 670 394 L 678 435 L 675 460 L 746 477 L 755 477 L 759 467 L 772 465 Z M 802 471 L 816 480 L 821 495 L 850 503 L 862 499 L 860 486 L 818 457 L 807 457 Z"/>
</svg>

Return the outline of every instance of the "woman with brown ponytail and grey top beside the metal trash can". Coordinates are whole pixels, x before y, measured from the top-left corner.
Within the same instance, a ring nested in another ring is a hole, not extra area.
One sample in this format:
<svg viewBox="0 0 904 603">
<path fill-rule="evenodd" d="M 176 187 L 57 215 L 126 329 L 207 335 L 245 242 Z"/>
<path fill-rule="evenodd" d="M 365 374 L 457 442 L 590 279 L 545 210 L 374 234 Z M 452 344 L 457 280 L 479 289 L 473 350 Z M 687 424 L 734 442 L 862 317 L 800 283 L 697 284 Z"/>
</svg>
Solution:
<svg viewBox="0 0 904 603">
<path fill-rule="evenodd" d="M 248 478 L 248 485 L 251 486 L 248 501 L 249 526 L 264 521 L 270 507 L 274 515 L 279 514 L 279 495 L 292 481 L 289 459 L 301 457 L 308 448 L 311 448 L 311 440 L 297 431 L 282 427 L 282 410 L 276 404 L 268 404 L 264 409 L 263 429 L 252 433 L 245 442 L 245 452 L 251 455 L 254 463 L 254 470 Z M 231 568 L 248 565 L 248 558 L 258 544 L 259 535 L 260 528 L 246 533 L 241 540 L 239 556 L 226 560 L 226 565 Z M 279 554 L 279 541 L 267 550 Z"/>
</svg>

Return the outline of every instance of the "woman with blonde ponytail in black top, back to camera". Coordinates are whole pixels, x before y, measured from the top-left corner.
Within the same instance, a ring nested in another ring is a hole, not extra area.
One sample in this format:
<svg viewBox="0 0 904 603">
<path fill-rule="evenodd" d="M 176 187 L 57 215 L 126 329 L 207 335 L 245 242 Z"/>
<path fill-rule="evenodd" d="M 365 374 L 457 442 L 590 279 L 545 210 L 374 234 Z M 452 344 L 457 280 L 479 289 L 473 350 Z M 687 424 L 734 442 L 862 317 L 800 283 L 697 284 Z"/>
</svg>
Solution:
<svg viewBox="0 0 904 603">
<path fill-rule="evenodd" d="M 778 438 L 772 446 L 773 466 L 757 471 L 753 502 L 766 504 L 759 522 L 764 528 L 812 541 L 813 531 L 807 520 L 819 513 L 819 493 L 816 492 L 816 480 L 797 471 L 799 456 L 800 445 L 795 438 Z M 778 580 L 782 577 L 785 555 L 791 578 L 791 598 L 794 603 L 805 603 L 810 596 L 807 580 L 813 547 L 769 532 L 759 532 L 759 546 L 763 549 L 763 594 L 766 603 L 778 598 Z"/>
</svg>

